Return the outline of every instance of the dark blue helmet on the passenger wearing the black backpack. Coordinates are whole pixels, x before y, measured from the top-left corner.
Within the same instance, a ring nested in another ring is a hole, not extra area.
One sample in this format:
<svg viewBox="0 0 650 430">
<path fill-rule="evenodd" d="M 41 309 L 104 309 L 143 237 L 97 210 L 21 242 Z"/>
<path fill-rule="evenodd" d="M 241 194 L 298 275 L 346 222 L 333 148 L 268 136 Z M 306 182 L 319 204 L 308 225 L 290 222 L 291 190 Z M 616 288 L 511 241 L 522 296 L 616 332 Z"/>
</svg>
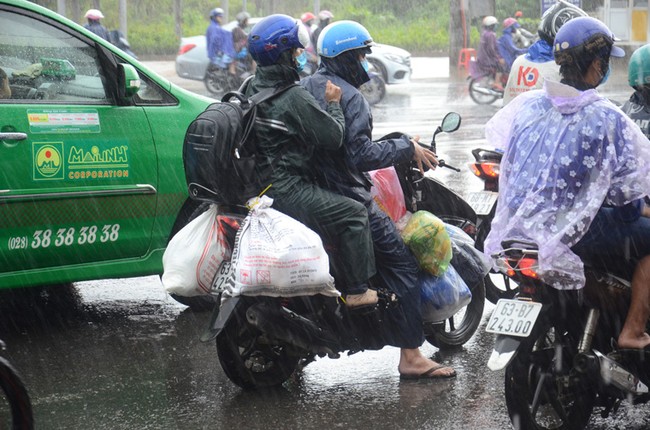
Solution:
<svg viewBox="0 0 650 430">
<path fill-rule="evenodd" d="M 309 34 L 288 15 L 269 15 L 255 24 L 248 35 L 248 51 L 260 66 L 276 64 L 284 51 L 304 48 Z"/>
</svg>

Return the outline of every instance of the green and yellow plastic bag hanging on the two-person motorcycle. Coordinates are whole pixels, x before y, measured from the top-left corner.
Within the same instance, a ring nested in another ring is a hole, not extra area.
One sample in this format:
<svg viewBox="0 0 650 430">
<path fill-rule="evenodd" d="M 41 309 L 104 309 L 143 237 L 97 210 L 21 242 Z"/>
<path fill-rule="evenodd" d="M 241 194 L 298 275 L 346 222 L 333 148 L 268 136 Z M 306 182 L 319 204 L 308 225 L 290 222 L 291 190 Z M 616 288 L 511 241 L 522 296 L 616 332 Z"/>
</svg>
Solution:
<svg viewBox="0 0 650 430">
<path fill-rule="evenodd" d="M 402 230 L 402 239 L 422 270 L 441 276 L 451 261 L 451 239 L 445 223 L 427 211 L 417 211 Z"/>
</svg>

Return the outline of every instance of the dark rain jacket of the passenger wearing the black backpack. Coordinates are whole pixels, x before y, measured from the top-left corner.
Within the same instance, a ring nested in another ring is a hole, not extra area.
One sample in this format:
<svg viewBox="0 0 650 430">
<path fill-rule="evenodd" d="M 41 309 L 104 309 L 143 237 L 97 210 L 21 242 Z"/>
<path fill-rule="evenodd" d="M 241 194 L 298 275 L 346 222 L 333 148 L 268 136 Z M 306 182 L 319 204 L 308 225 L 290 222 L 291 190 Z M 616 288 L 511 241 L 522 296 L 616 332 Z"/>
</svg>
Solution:
<svg viewBox="0 0 650 430">
<path fill-rule="evenodd" d="M 298 73 L 288 66 L 258 67 L 246 93 L 250 95 L 297 80 Z M 262 103 L 257 110 L 254 129 L 261 155 L 258 172 L 274 164 L 270 177 L 274 192 L 289 190 L 301 180 L 315 182 L 314 151 L 316 148 L 325 152 L 340 148 L 344 124 L 338 103 L 329 103 L 321 109 L 314 97 L 299 85 Z"/>
</svg>

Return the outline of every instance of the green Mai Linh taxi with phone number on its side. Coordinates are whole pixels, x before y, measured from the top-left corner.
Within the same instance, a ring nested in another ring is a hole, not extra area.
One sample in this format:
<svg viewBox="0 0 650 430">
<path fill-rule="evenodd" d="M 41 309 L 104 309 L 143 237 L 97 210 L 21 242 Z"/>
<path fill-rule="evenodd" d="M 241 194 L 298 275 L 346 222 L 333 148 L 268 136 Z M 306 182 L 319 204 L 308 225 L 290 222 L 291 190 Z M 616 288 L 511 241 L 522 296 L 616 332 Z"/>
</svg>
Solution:
<svg viewBox="0 0 650 430">
<path fill-rule="evenodd" d="M 0 0 L 0 69 L 0 289 L 161 273 L 214 100 L 28 1 Z"/>
</svg>

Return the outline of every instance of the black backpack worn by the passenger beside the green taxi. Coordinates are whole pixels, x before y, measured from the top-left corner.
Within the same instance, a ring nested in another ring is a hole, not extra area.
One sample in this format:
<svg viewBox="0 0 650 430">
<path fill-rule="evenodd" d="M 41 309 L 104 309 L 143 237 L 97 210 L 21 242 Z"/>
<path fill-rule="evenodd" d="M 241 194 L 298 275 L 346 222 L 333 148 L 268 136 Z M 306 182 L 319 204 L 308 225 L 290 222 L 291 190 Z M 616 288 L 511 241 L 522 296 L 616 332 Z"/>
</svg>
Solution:
<svg viewBox="0 0 650 430">
<path fill-rule="evenodd" d="M 183 164 L 194 200 L 241 205 L 268 185 L 255 172 L 255 133 L 251 131 L 257 106 L 296 84 L 267 88 L 248 98 L 243 94 L 247 84 L 208 106 L 187 128 Z"/>
</svg>

